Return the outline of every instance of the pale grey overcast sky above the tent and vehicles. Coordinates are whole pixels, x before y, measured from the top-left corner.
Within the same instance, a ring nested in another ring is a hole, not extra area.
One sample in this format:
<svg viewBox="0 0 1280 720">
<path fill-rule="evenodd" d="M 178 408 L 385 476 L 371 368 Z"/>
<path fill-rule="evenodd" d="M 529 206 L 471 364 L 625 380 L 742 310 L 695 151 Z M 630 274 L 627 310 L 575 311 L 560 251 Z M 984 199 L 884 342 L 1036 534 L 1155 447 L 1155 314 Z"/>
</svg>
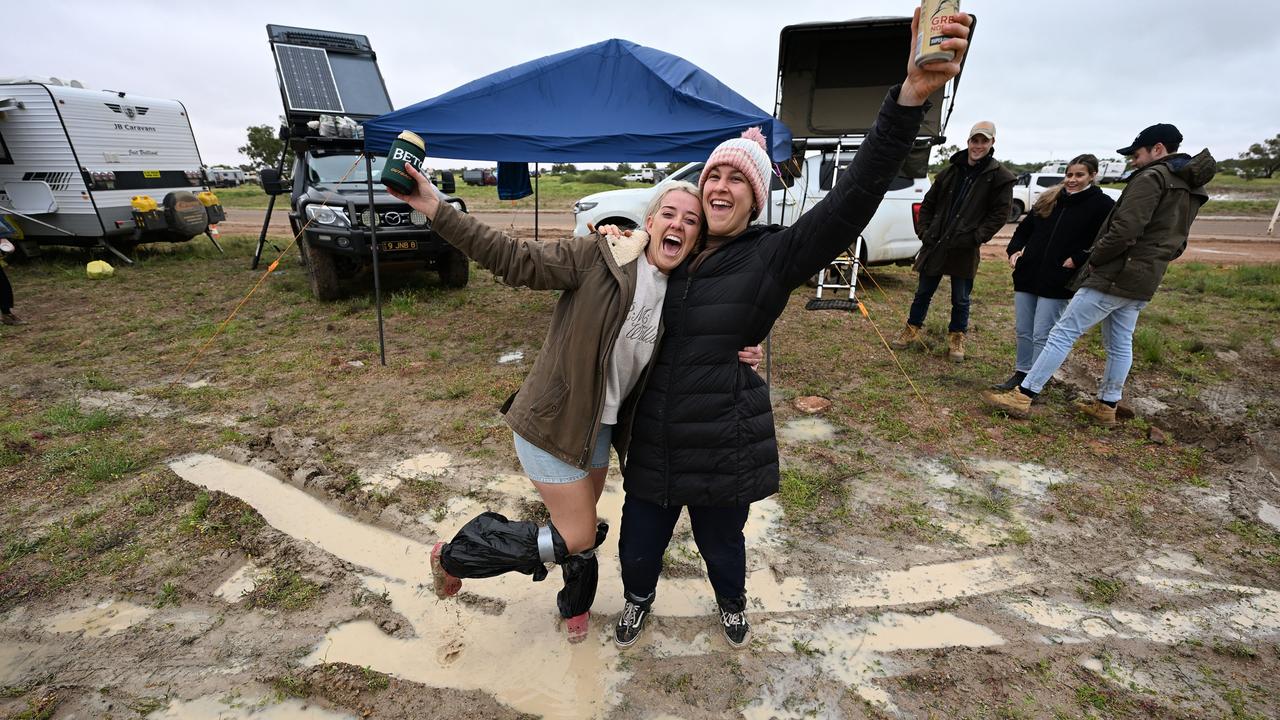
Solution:
<svg viewBox="0 0 1280 720">
<path fill-rule="evenodd" d="M 680 55 L 772 111 L 778 31 L 905 15 L 910 0 L 452 3 L 24 1 L 3 10 L 0 77 L 182 100 L 206 164 L 239 164 L 280 94 L 268 23 L 366 35 L 392 102 L 411 105 L 541 55 L 621 37 Z M 997 124 L 997 158 L 1102 158 L 1171 122 L 1184 150 L 1234 158 L 1280 132 L 1280 35 L 1256 0 L 964 0 L 979 18 L 948 142 Z M 475 163 L 472 163 L 475 164 Z"/>
</svg>

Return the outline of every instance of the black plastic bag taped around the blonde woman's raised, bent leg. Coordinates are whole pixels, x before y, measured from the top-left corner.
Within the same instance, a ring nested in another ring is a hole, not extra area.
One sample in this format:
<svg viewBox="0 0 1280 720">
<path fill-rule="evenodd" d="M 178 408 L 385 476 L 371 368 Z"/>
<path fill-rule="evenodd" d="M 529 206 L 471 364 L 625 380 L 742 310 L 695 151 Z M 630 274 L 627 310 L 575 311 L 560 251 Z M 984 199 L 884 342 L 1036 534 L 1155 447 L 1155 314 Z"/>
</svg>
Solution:
<svg viewBox="0 0 1280 720">
<path fill-rule="evenodd" d="M 515 571 L 541 580 L 547 566 L 538 553 L 538 530 L 536 524 L 526 520 L 481 512 L 444 546 L 440 564 L 456 578 L 493 578 Z M 564 538 L 554 527 L 550 530 L 556 560 L 563 561 L 568 556 Z"/>
</svg>

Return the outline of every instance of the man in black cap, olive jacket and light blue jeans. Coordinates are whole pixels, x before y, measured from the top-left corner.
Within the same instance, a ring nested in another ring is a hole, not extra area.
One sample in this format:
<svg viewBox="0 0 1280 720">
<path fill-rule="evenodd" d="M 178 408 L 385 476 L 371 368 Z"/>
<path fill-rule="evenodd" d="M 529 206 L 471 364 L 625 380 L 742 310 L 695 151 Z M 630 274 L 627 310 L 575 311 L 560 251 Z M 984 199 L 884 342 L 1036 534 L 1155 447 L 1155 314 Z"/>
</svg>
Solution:
<svg viewBox="0 0 1280 720">
<path fill-rule="evenodd" d="M 1076 404 L 1076 409 L 1101 425 L 1115 424 L 1116 404 L 1133 365 L 1138 313 L 1156 295 L 1169 263 L 1187 249 L 1192 222 L 1208 200 L 1204 183 L 1216 172 L 1208 150 L 1193 158 L 1178 152 L 1181 141 L 1176 127 L 1160 123 L 1116 150 L 1129 158 L 1134 173 L 1098 231 L 1089 261 L 1073 282 L 1075 296 L 1021 384 L 1009 392 L 984 392 L 988 405 L 1025 416 L 1032 398 L 1066 360 L 1076 338 L 1102 323 L 1107 364 L 1098 397 Z"/>
</svg>

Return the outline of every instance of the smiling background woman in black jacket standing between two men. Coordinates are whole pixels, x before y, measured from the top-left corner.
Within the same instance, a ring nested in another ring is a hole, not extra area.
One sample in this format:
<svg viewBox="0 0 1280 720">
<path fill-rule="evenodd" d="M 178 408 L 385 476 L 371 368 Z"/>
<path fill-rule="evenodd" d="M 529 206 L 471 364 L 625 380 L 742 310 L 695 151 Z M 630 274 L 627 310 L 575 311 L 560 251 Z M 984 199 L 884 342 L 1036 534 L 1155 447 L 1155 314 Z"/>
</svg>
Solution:
<svg viewBox="0 0 1280 720">
<path fill-rule="evenodd" d="M 1115 205 L 1093 184 L 1098 159 L 1078 155 L 1066 164 L 1066 178 L 1046 190 L 1018 224 L 1005 252 L 1014 269 L 1014 332 L 1018 356 L 1014 374 L 992 386 L 1012 389 L 1036 363 L 1053 323 L 1074 291 L 1068 283 L 1084 266 L 1089 247 Z"/>
</svg>

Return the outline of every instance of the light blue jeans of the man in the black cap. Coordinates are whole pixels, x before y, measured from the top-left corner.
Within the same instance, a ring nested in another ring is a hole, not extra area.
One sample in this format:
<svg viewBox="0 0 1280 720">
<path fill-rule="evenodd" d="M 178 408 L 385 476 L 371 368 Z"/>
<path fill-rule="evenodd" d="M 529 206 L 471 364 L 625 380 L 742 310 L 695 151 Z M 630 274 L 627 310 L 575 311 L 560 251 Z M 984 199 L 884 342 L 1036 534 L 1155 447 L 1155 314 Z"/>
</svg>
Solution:
<svg viewBox="0 0 1280 720">
<path fill-rule="evenodd" d="M 1147 306 L 1146 300 L 1129 300 L 1092 288 L 1080 288 L 1068 304 L 1062 316 L 1050 331 L 1044 350 L 1027 373 L 1023 387 L 1039 392 L 1053 373 L 1066 361 L 1071 346 L 1093 325 L 1102 323 L 1102 345 L 1107 351 L 1107 366 L 1102 372 L 1098 398 L 1120 402 L 1124 380 L 1133 366 L 1133 331 L 1138 327 L 1138 313 Z"/>
</svg>

